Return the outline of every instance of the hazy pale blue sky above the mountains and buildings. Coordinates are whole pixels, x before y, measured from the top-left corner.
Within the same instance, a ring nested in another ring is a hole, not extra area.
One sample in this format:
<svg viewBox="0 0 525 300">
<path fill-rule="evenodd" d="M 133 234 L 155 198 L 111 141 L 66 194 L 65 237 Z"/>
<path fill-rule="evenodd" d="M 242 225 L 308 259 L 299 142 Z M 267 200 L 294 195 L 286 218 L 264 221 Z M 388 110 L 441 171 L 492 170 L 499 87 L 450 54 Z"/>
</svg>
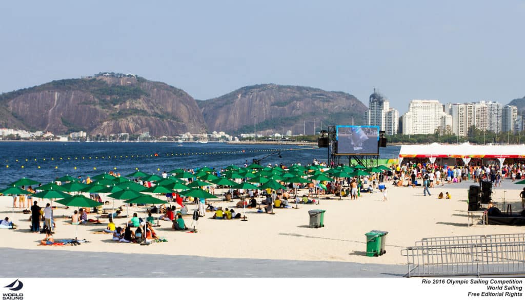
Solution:
<svg viewBox="0 0 525 300">
<path fill-rule="evenodd" d="M 0 92 L 100 71 L 215 98 L 261 83 L 391 107 L 525 96 L 523 1 L 5 1 Z"/>
</svg>

